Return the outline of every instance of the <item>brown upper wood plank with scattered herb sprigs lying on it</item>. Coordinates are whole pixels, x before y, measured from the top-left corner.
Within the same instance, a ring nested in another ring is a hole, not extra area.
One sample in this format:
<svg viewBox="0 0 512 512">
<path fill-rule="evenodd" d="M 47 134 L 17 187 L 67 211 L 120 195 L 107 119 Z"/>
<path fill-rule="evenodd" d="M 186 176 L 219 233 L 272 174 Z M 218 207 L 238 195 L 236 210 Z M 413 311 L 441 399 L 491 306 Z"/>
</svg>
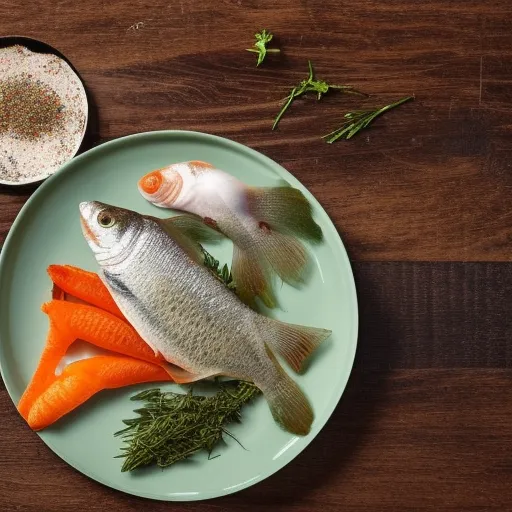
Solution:
<svg viewBox="0 0 512 512">
<path fill-rule="evenodd" d="M 508 0 L 36 0 L 2 3 L 0 15 L 5 32 L 46 40 L 73 61 L 96 143 L 169 128 L 230 137 L 302 180 L 355 259 L 510 260 Z M 263 26 L 283 55 L 256 68 L 244 49 Z M 318 76 L 372 97 L 297 101 L 272 132 L 308 58 Z M 347 109 L 407 94 L 417 100 L 362 136 L 320 139 Z M 0 194 L 3 238 L 21 201 Z"/>
</svg>

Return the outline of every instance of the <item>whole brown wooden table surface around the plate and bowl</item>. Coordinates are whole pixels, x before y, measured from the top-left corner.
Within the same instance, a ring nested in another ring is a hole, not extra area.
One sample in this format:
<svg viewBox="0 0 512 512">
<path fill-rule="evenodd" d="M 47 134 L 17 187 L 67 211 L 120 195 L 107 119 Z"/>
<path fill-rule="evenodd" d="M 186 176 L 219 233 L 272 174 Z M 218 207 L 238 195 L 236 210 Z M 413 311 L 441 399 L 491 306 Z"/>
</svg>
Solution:
<svg viewBox="0 0 512 512">
<path fill-rule="evenodd" d="M 0 385 L 1 510 L 512 510 L 512 6 L 507 0 L 176 0 L 0 4 L 2 32 L 81 72 L 89 145 L 199 130 L 302 181 L 353 262 L 361 328 L 332 419 L 288 467 L 199 504 L 123 495 L 68 467 Z M 244 49 L 267 27 L 283 49 Z M 372 94 L 297 101 L 307 74 Z M 351 141 L 349 109 L 416 100 Z M 33 189 L 0 190 L 0 237 Z"/>
</svg>

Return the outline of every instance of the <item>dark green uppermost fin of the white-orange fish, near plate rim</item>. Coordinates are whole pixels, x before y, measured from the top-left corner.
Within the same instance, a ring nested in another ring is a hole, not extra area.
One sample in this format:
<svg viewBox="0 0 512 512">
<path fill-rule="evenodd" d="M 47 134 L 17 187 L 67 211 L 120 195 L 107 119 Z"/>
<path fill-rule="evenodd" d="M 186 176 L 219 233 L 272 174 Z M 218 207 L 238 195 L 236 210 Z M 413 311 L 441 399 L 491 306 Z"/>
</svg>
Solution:
<svg viewBox="0 0 512 512">
<path fill-rule="evenodd" d="M 249 188 L 247 204 L 253 217 L 266 222 L 273 231 L 313 243 L 322 241 L 322 228 L 313 220 L 311 204 L 296 188 Z"/>
</svg>

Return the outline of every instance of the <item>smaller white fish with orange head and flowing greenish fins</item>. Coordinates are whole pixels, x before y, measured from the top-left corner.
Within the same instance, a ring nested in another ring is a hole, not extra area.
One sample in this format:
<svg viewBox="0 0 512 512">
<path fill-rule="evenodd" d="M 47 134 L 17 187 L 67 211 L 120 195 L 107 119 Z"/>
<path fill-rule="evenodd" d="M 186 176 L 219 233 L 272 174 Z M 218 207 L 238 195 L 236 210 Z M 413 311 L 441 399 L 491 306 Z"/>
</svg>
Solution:
<svg viewBox="0 0 512 512">
<path fill-rule="evenodd" d="M 259 296 L 267 307 L 275 307 L 275 274 L 291 284 L 303 281 L 308 255 L 298 239 L 322 240 L 322 230 L 300 190 L 249 187 L 206 162 L 152 171 L 138 187 L 154 205 L 198 215 L 233 241 L 233 280 L 250 305 Z"/>
</svg>

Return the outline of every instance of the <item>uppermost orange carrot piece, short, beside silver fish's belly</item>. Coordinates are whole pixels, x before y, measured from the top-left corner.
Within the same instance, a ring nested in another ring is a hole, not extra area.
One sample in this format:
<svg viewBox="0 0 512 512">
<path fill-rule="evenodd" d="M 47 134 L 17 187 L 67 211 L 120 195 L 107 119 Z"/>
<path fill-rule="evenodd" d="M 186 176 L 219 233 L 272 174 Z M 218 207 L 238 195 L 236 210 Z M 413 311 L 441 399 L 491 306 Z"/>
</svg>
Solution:
<svg viewBox="0 0 512 512">
<path fill-rule="evenodd" d="M 48 274 L 62 291 L 124 319 L 98 274 L 71 265 L 50 265 Z"/>
</svg>

